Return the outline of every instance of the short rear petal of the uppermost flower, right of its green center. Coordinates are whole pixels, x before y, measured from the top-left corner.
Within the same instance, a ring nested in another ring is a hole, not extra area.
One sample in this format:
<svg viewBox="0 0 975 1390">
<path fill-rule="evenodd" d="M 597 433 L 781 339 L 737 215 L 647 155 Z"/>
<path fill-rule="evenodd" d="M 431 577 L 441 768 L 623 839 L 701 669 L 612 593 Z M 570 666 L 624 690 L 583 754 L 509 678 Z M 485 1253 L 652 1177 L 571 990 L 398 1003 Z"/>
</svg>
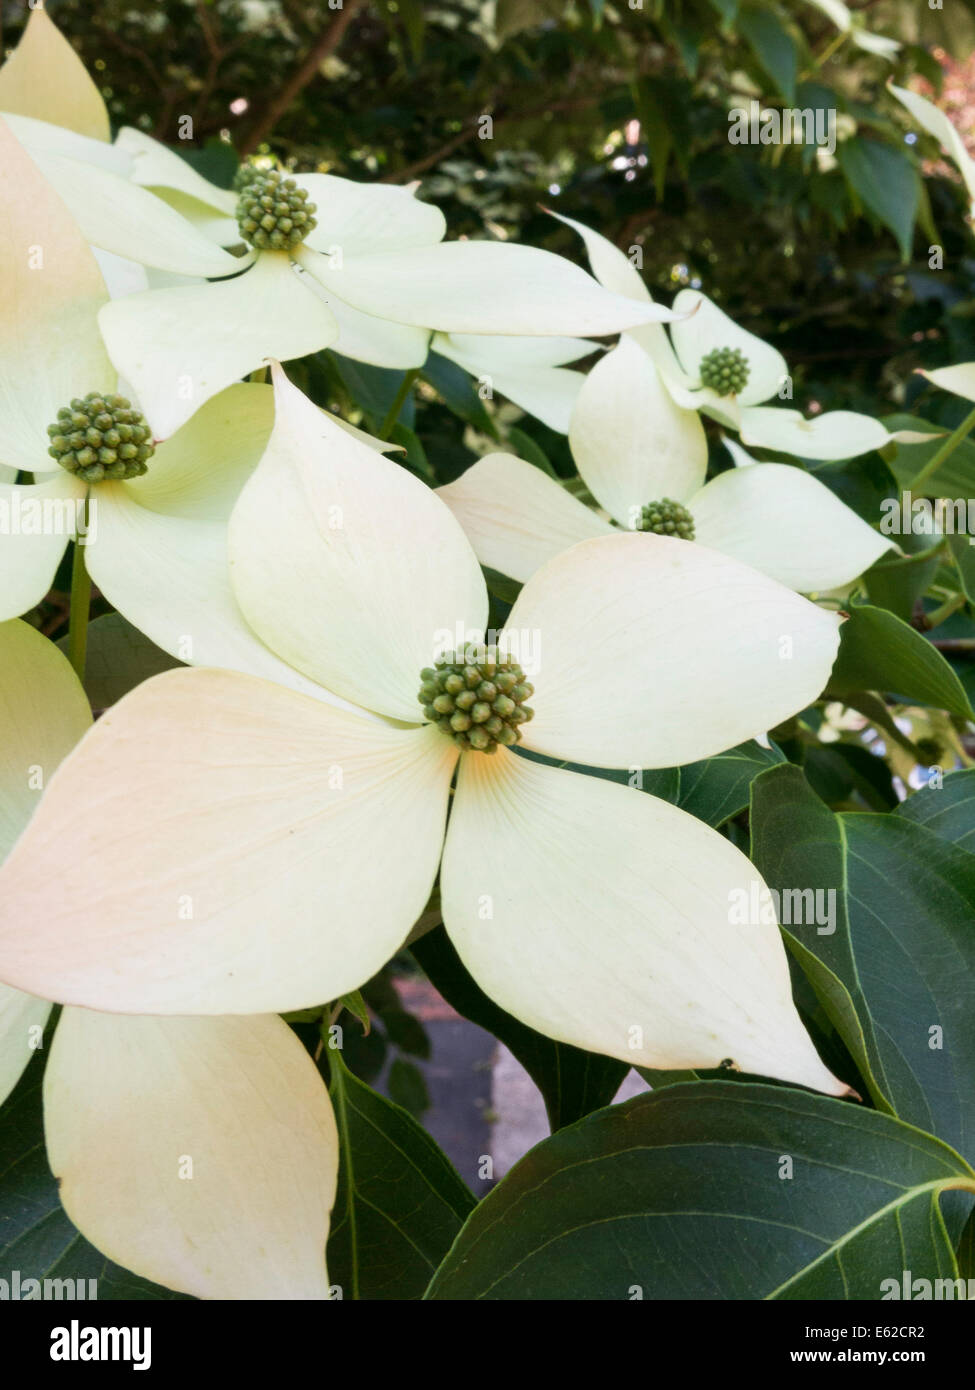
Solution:
<svg viewBox="0 0 975 1390">
<path fill-rule="evenodd" d="M 334 174 L 292 174 L 316 204 L 306 245 L 345 257 L 431 246 L 444 239 L 446 221 L 433 203 L 392 183 L 356 183 Z"/>
</svg>

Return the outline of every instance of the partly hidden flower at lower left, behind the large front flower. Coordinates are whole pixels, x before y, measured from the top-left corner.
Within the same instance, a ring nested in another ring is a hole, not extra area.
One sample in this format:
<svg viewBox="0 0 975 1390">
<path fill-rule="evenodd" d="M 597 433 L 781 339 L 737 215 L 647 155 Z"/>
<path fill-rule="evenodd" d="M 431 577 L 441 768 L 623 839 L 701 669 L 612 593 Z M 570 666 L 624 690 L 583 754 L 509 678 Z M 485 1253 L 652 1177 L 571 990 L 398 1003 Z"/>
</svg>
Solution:
<svg viewBox="0 0 975 1390">
<path fill-rule="evenodd" d="M 0 624 L 0 717 L 3 859 L 92 721 L 67 660 L 26 623 Z M 29 935 L 31 920 L 18 930 Z M 42 1044 L 51 994 L 0 986 L 0 1101 Z M 64 1209 L 110 1259 L 200 1298 L 328 1297 L 335 1122 L 281 1019 L 68 1006 L 43 1099 Z"/>
</svg>

